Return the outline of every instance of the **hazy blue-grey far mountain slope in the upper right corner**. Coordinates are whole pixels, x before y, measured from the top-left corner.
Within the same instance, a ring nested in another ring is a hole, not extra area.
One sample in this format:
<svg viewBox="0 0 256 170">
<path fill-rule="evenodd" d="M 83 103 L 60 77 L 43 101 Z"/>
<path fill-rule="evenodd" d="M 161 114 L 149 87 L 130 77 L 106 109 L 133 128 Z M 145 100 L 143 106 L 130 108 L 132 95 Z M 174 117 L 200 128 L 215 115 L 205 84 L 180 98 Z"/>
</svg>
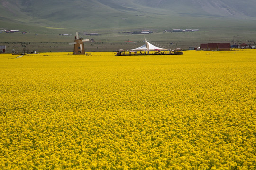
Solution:
<svg viewBox="0 0 256 170">
<path fill-rule="evenodd" d="M 132 3 L 131 3 L 131 2 Z M 154 8 L 165 8 L 187 15 L 207 15 L 225 17 L 256 17 L 255 0 L 116 0 L 128 6 L 140 4 Z"/>
</svg>

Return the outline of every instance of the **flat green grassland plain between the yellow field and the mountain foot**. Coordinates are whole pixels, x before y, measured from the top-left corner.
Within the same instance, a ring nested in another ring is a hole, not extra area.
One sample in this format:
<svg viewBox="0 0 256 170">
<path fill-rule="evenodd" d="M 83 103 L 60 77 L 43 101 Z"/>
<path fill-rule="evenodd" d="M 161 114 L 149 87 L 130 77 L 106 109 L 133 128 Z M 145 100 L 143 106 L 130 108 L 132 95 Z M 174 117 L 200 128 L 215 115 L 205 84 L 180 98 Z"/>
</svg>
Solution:
<svg viewBox="0 0 256 170">
<path fill-rule="evenodd" d="M 214 42 L 226 42 L 233 44 L 233 36 L 235 36 L 235 43 L 248 43 L 254 45 L 256 42 L 256 22 L 253 20 L 236 21 L 231 19 L 204 19 L 198 22 L 189 22 L 187 19 L 187 25 L 182 21 L 177 22 L 177 25 L 167 23 L 153 23 L 148 27 L 118 27 L 113 29 L 95 29 L 95 30 L 83 30 L 83 29 L 65 29 L 65 28 L 49 28 L 49 27 L 30 27 L 26 25 L 14 26 L 11 28 L 17 28 L 19 30 L 27 31 L 27 34 L 21 33 L 1 33 L 0 44 L 7 45 L 7 52 L 11 49 L 22 50 L 23 47 L 29 47 L 32 51 L 38 52 L 61 52 L 61 51 L 73 51 L 73 46 L 68 43 L 74 41 L 74 34 L 79 32 L 79 36 L 83 38 L 93 38 L 94 43 L 85 42 L 86 51 L 115 51 L 119 48 L 131 49 L 142 45 L 144 42 L 144 36 L 146 39 L 165 46 L 168 49 L 174 49 L 180 47 L 188 49 L 188 47 L 198 47 L 200 43 L 214 43 Z M 229 23 L 228 25 L 226 23 Z M 200 24 L 201 23 L 201 24 Z M 217 24 L 216 24 L 217 23 Z M 216 26 L 218 25 L 218 26 Z M 155 26 L 155 27 L 154 27 Z M 198 26 L 198 27 L 197 27 Z M 192 28 L 200 29 L 199 32 L 185 32 L 185 33 L 168 33 L 165 29 L 170 28 Z M 123 31 L 134 31 L 150 29 L 152 34 L 124 34 Z M 82 33 L 97 32 L 99 36 L 85 36 Z M 38 35 L 35 35 L 38 34 Z M 59 34 L 72 34 L 72 36 L 59 36 Z M 134 41 L 138 43 L 125 43 L 125 41 Z M 57 46 L 57 47 L 56 47 Z"/>
</svg>

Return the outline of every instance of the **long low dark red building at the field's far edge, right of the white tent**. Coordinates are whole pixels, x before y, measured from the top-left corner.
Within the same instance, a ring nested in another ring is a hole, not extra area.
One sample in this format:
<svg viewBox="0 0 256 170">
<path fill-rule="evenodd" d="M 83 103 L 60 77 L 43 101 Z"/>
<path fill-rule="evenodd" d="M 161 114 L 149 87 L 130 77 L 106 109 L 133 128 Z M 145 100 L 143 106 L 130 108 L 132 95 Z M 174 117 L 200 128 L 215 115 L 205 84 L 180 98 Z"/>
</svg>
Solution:
<svg viewBox="0 0 256 170">
<path fill-rule="evenodd" d="M 211 51 L 229 51 L 231 48 L 230 43 L 207 43 L 200 44 L 200 50 L 211 50 Z"/>
</svg>

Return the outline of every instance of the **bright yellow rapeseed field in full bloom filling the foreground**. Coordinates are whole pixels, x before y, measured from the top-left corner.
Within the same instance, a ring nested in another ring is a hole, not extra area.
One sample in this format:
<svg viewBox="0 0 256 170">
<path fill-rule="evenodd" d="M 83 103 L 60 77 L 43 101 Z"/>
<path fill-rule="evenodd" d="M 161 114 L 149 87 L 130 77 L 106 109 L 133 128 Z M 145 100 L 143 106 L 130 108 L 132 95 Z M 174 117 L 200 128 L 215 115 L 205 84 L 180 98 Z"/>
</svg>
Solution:
<svg viewBox="0 0 256 170">
<path fill-rule="evenodd" d="M 0 55 L 1 170 L 255 170 L 256 50 Z"/>
</svg>

